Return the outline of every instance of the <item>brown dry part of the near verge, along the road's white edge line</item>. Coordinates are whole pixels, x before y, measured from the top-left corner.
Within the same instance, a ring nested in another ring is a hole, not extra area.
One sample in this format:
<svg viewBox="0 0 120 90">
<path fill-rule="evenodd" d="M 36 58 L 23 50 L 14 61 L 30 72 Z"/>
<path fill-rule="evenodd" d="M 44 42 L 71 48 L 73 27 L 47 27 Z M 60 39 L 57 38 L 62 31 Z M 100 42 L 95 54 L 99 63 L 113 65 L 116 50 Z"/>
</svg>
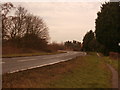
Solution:
<svg viewBox="0 0 120 90">
<path fill-rule="evenodd" d="M 75 68 L 79 60 L 3 75 L 3 88 L 48 87 L 47 83 L 59 79 L 62 74 Z M 81 57 L 81 64 L 84 62 Z"/>
</svg>

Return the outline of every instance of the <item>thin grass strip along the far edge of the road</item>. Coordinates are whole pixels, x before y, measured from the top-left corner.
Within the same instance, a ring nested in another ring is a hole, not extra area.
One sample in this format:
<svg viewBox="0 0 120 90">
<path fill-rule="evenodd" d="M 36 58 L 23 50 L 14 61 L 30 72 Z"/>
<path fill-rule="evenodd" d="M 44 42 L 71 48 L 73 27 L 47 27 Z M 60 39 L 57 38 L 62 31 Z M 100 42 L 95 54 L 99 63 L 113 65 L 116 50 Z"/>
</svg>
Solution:
<svg viewBox="0 0 120 90">
<path fill-rule="evenodd" d="M 2 55 L 2 58 L 39 56 L 39 55 L 54 55 L 54 54 L 60 54 L 60 53 L 66 53 L 66 52 L 53 52 L 53 53 L 40 52 L 40 53 L 7 54 L 7 55 Z"/>
</svg>

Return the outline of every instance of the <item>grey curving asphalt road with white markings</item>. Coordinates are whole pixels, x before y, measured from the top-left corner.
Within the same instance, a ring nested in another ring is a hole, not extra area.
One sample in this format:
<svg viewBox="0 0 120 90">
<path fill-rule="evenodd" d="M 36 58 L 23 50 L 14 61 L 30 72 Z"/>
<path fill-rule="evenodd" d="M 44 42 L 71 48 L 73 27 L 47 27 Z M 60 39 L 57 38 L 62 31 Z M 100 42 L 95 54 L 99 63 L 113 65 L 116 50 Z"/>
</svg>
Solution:
<svg viewBox="0 0 120 90">
<path fill-rule="evenodd" d="M 2 59 L 2 74 L 14 73 L 27 69 L 42 67 L 45 65 L 55 64 L 63 61 L 70 60 L 77 56 L 84 56 L 83 52 L 69 51 L 67 53 L 55 54 L 55 55 L 42 55 L 42 56 L 30 56 L 30 57 L 15 57 L 15 58 L 3 58 Z"/>
</svg>

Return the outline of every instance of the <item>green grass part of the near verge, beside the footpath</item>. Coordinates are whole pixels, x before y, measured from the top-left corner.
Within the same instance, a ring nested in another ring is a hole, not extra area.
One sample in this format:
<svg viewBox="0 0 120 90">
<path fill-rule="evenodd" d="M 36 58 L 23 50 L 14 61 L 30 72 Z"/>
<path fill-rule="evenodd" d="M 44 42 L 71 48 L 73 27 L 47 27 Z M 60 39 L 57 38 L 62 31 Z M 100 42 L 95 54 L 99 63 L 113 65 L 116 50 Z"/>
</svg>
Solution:
<svg viewBox="0 0 120 90">
<path fill-rule="evenodd" d="M 51 83 L 50 87 L 110 88 L 110 78 L 111 73 L 101 59 L 97 56 L 86 56 L 83 65 L 78 65 L 74 71 L 63 75 L 61 80 Z"/>
</svg>

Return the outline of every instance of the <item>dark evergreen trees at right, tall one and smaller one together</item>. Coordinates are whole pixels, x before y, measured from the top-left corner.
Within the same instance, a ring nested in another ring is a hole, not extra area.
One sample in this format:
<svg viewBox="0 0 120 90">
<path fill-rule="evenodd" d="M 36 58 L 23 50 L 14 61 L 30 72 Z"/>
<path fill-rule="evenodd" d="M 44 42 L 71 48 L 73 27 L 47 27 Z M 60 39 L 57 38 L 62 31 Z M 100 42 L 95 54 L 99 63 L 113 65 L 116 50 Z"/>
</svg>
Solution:
<svg viewBox="0 0 120 90">
<path fill-rule="evenodd" d="M 120 4 L 105 2 L 97 13 L 95 32 L 90 30 L 83 39 L 83 51 L 120 53 Z"/>
</svg>

